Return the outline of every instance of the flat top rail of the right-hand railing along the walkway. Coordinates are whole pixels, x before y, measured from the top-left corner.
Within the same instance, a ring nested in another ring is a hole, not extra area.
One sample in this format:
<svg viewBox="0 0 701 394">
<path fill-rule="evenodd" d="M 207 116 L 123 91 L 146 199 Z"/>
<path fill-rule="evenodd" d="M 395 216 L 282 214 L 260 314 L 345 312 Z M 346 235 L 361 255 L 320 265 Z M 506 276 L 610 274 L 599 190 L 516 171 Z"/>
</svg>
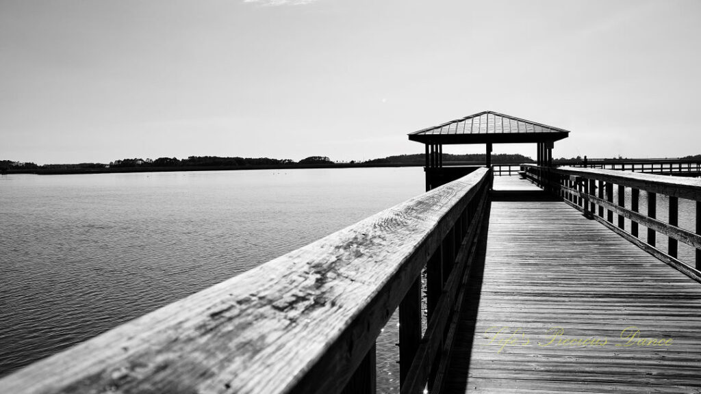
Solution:
<svg viewBox="0 0 701 394">
<path fill-rule="evenodd" d="M 524 164 L 524 166 L 537 167 L 536 165 L 529 164 Z M 550 168 L 550 171 L 563 175 L 575 175 L 602 180 L 604 182 L 622 184 L 623 186 L 652 191 L 667 196 L 701 201 L 701 179 L 696 178 L 579 167 L 557 167 Z"/>
</svg>

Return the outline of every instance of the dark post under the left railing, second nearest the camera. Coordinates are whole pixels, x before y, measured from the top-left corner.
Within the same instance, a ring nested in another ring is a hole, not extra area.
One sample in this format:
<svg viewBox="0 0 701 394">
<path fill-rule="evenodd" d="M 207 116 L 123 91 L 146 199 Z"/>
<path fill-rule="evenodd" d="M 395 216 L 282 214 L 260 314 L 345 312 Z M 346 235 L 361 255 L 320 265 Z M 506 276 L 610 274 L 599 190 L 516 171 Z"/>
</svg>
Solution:
<svg viewBox="0 0 701 394">
<path fill-rule="evenodd" d="M 421 277 L 399 305 L 399 384 L 404 384 L 421 341 Z"/>
</svg>

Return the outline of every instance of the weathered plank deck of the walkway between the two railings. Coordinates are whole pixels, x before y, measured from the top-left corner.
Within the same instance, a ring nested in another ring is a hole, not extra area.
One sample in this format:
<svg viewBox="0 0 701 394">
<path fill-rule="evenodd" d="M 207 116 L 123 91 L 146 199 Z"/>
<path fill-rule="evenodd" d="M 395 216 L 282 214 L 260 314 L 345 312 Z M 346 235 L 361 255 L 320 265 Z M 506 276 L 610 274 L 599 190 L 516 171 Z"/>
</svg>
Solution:
<svg viewBox="0 0 701 394">
<path fill-rule="evenodd" d="M 445 392 L 701 393 L 688 276 L 517 177 L 494 179 L 478 256 Z"/>
</svg>

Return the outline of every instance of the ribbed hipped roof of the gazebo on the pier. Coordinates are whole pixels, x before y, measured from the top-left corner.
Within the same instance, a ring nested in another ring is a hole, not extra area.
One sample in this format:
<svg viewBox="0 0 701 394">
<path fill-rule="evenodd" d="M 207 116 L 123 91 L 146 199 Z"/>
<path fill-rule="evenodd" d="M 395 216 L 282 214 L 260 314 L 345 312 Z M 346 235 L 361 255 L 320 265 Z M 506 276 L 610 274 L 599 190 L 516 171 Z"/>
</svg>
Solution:
<svg viewBox="0 0 701 394">
<path fill-rule="evenodd" d="M 553 142 L 568 135 L 569 131 L 562 128 L 484 111 L 409 133 L 409 140 L 423 144 L 515 144 Z"/>
</svg>

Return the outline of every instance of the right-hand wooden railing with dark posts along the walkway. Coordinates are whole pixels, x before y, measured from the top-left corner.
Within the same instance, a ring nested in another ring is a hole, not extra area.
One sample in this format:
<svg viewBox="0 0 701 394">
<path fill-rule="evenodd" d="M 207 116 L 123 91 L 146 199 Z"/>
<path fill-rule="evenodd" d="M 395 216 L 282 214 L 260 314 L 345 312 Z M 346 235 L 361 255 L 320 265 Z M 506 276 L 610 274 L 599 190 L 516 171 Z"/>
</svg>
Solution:
<svg viewBox="0 0 701 394">
<path fill-rule="evenodd" d="M 701 282 L 701 179 L 527 164 L 522 165 L 522 170 L 528 179 L 562 197 L 587 217 L 597 219 L 641 249 Z M 613 201 L 614 188 L 617 201 Z M 630 189 L 629 207 L 625 206 L 626 189 Z M 639 212 L 641 191 L 647 194 L 646 213 Z M 658 194 L 667 196 L 669 201 L 667 222 L 657 219 Z M 695 204 L 695 232 L 679 227 L 679 198 Z M 629 229 L 625 228 L 625 219 L 631 221 Z M 646 240 L 639 238 L 639 225 L 647 228 Z M 656 246 L 657 233 L 667 237 L 667 252 Z M 695 263 L 679 260 L 679 242 L 695 248 Z"/>
</svg>

